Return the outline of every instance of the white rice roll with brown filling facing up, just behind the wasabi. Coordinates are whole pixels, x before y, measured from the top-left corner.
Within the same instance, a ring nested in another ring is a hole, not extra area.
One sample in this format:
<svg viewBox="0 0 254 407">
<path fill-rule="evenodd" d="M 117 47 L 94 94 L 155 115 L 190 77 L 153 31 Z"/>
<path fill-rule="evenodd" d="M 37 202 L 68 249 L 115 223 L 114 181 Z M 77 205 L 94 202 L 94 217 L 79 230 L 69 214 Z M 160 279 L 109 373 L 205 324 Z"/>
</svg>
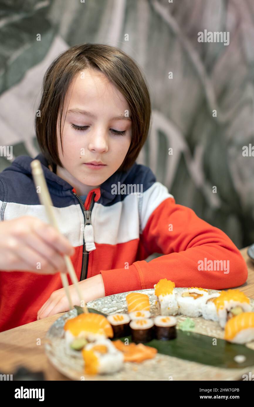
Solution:
<svg viewBox="0 0 254 407">
<path fill-rule="evenodd" d="M 208 290 L 201 287 L 190 287 L 177 295 L 179 314 L 187 317 L 199 317 L 202 315 L 201 305 L 208 297 Z"/>
</svg>

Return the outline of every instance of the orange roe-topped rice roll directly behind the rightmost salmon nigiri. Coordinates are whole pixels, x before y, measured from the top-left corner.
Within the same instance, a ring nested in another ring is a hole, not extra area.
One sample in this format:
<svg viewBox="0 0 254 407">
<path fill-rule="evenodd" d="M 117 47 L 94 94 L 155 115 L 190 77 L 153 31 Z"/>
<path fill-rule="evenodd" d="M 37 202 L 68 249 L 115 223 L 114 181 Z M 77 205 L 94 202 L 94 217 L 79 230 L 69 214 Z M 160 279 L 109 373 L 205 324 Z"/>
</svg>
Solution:
<svg viewBox="0 0 254 407">
<path fill-rule="evenodd" d="M 224 328 L 226 322 L 235 315 L 252 310 L 250 299 L 238 289 L 221 291 L 219 297 L 215 298 L 214 304 L 221 328 Z"/>
</svg>

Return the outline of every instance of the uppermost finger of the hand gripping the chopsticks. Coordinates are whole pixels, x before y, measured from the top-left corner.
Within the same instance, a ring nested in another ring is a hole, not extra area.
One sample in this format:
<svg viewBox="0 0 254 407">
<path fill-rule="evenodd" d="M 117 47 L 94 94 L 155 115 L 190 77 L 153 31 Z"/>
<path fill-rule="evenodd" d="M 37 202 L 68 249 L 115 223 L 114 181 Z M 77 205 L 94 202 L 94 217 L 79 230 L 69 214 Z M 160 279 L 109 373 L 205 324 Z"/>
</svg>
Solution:
<svg viewBox="0 0 254 407">
<path fill-rule="evenodd" d="M 47 244 L 54 247 L 58 252 L 72 255 L 73 247 L 66 237 L 62 236 L 53 226 L 47 223 L 35 222 L 33 230 L 38 234 Z"/>
</svg>

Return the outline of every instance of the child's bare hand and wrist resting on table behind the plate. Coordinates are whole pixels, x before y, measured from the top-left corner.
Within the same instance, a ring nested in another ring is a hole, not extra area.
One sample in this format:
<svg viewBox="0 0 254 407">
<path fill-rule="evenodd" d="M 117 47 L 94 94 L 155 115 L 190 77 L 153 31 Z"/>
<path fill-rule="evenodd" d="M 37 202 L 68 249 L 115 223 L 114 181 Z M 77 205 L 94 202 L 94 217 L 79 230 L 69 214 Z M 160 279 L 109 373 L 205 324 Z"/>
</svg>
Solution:
<svg viewBox="0 0 254 407">
<path fill-rule="evenodd" d="M 82 298 L 85 302 L 102 298 L 105 295 L 104 283 L 101 274 L 82 280 L 79 283 Z M 80 299 L 74 285 L 69 286 L 71 299 L 73 305 L 80 306 Z M 60 312 L 69 311 L 68 299 L 65 295 L 64 288 L 54 291 L 49 299 L 42 305 L 37 314 L 37 319 L 50 317 L 51 315 L 58 314 Z"/>
</svg>

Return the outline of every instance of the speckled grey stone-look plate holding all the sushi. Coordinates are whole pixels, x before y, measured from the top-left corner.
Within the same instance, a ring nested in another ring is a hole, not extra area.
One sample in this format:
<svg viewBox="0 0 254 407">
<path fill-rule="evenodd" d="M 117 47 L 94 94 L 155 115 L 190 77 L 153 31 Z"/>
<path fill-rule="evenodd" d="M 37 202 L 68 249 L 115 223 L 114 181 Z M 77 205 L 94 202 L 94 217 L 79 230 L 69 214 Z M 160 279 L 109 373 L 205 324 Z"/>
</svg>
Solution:
<svg viewBox="0 0 254 407">
<path fill-rule="evenodd" d="M 181 293 L 184 288 L 175 288 L 174 291 L 176 293 Z M 208 290 L 209 293 L 216 293 L 216 290 Z M 144 293 L 149 296 L 150 301 L 150 311 L 152 316 L 158 315 L 157 306 L 155 305 L 156 297 L 155 297 L 155 290 L 154 289 L 147 289 L 147 290 L 138 290 L 138 291 L 129 291 L 126 293 L 119 293 L 110 295 L 104 298 L 99 298 L 95 301 L 88 302 L 87 306 L 89 309 L 95 310 L 95 312 L 104 313 L 106 315 L 110 315 L 113 313 L 127 313 L 127 304 L 126 304 L 126 295 L 130 292 L 137 292 L 137 293 Z M 250 298 L 250 304 L 252 306 L 252 311 L 254 311 L 254 300 Z M 184 349 L 181 352 L 184 354 L 192 354 L 197 355 L 198 357 L 174 357 L 174 352 L 171 352 L 171 355 L 160 353 L 160 349 L 158 348 L 159 352 L 153 359 L 146 360 L 142 363 L 131 363 L 125 362 L 124 368 L 114 374 L 104 374 L 104 375 L 95 375 L 95 376 L 88 376 L 84 374 L 84 364 L 81 352 L 77 352 L 71 350 L 70 348 L 66 347 L 66 342 L 64 339 L 64 324 L 67 319 L 74 318 L 77 316 L 77 310 L 73 309 L 68 311 L 60 318 L 58 318 L 53 325 L 50 327 L 49 331 L 46 333 L 45 337 L 45 351 L 46 355 L 49 358 L 49 361 L 52 365 L 62 374 L 67 376 L 69 379 L 73 380 L 82 380 L 82 381 L 94 381 L 94 380 L 103 380 L 103 381 L 174 381 L 174 380 L 243 380 L 243 374 L 249 375 L 249 372 L 254 372 L 254 356 L 248 360 L 251 360 L 250 366 L 248 362 L 241 366 L 241 363 L 237 365 L 234 362 L 233 356 L 236 354 L 235 351 L 232 353 L 232 366 L 233 368 L 228 367 L 221 367 L 216 365 L 204 364 L 201 363 L 205 359 L 205 357 L 209 354 L 209 358 L 216 360 L 216 352 L 218 348 L 216 345 L 214 346 L 214 340 L 220 341 L 224 337 L 224 330 L 219 326 L 219 323 L 203 319 L 203 317 L 191 318 L 194 323 L 195 327 L 190 333 L 186 333 L 177 329 L 179 333 L 178 337 L 183 339 L 183 342 L 179 342 L 178 344 L 182 344 L 182 346 L 186 346 L 186 352 Z M 184 315 L 177 315 L 177 322 L 184 321 L 186 316 Z M 194 334 L 193 334 L 194 333 Z M 186 335 L 195 336 L 193 340 L 190 337 L 191 346 L 188 344 L 188 337 L 184 338 Z M 200 336 L 205 335 L 205 337 Z M 202 347 L 200 348 L 200 340 L 208 342 L 210 340 L 210 345 L 206 350 L 203 350 L 202 355 Z M 175 341 L 175 339 L 173 339 Z M 165 349 L 165 341 L 162 342 L 162 348 Z M 164 342 L 164 343 L 163 343 Z M 168 342 L 168 346 L 173 344 L 172 341 Z M 232 349 L 226 348 L 226 346 L 235 347 L 238 346 L 239 354 L 243 354 L 248 348 L 247 351 L 253 351 L 254 355 L 254 341 L 250 342 L 245 345 L 235 345 L 235 344 L 228 344 L 226 341 L 220 341 L 221 343 L 225 343 L 225 353 L 231 354 Z M 154 341 L 155 343 L 155 341 Z M 151 342 L 150 346 L 153 346 Z M 181 346 L 181 345 L 180 345 Z M 220 344 L 221 347 L 221 344 Z M 172 347 L 174 350 L 174 347 Z M 188 349 L 187 349 L 188 348 Z M 221 348 L 223 349 L 223 348 Z M 252 352 L 251 352 L 252 353 Z M 238 354 L 238 352 L 237 352 Z M 212 355 L 212 357 L 211 357 Z M 229 356 L 227 356 L 228 361 Z M 189 360 L 188 360 L 189 359 Z M 197 361 L 199 360 L 199 361 Z M 236 366 L 237 365 L 237 366 Z M 229 364 L 230 366 L 230 364 Z M 236 367 L 235 367 L 236 366 Z"/>
</svg>

